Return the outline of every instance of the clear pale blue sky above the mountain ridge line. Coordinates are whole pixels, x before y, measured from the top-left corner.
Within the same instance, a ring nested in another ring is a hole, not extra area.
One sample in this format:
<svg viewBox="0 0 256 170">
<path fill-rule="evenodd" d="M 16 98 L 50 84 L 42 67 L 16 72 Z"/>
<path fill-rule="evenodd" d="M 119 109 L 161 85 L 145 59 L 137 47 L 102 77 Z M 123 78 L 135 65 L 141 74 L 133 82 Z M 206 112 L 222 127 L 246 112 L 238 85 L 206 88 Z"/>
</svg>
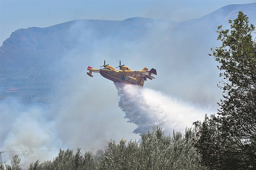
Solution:
<svg viewBox="0 0 256 170">
<path fill-rule="evenodd" d="M 0 44 L 19 28 L 48 27 L 77 19 L 147 17 L 181 22 L 229 4 L 256 0 L 0 0 Z"/>
</svg>

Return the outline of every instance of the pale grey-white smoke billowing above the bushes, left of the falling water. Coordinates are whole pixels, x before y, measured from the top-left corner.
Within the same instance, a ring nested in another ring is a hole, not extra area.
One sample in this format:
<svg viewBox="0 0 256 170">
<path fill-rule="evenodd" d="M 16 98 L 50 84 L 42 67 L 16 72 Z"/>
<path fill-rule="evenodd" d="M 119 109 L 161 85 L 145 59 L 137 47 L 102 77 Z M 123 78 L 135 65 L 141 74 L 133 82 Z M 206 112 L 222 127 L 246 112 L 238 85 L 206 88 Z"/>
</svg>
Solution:
<svg viewBox="0 0 256 170">
<path fill-rule="evenodd" d="M 97 78 L 86 81 L 77 75 L 76 79 L 56 92 L 55 98 L 48 96 L 52 99 L 49 104 L 22 103 L 17 98 L 0 103 L 2 162 L 11 164 L 12 156 L 18 154 L 22 168 L 27 168 L 38 159 L 52 160 L 60 148 L 101 153 L 111 138 L 139 138 L 132 133 L 136 126 L 123 119 L 111 82 L 106 80 L 109 87 L 96 83 Z"/>
</svg>

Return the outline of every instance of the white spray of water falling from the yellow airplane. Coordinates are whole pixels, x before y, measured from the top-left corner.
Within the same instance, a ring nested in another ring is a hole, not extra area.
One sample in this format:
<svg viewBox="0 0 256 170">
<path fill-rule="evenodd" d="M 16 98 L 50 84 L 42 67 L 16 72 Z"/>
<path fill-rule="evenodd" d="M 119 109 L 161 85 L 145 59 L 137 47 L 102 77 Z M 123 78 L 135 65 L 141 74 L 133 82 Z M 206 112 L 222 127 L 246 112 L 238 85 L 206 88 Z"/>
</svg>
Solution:
<svg viewBox="0 0 256 170">
<path fill-rule="evenodd" d="M 162 127 L 165 134 L 173 130 L 184 132 L 194 121 L 203 120 L 209 113 L 207 108 L 199 108 L 164 95 L 160 91 L 134 85 L 115 83 L 120 96 L 119 107 L 128 122 L 137 125 L 136 134 L 147 133 L 152 125 Z"/>
</svg>

